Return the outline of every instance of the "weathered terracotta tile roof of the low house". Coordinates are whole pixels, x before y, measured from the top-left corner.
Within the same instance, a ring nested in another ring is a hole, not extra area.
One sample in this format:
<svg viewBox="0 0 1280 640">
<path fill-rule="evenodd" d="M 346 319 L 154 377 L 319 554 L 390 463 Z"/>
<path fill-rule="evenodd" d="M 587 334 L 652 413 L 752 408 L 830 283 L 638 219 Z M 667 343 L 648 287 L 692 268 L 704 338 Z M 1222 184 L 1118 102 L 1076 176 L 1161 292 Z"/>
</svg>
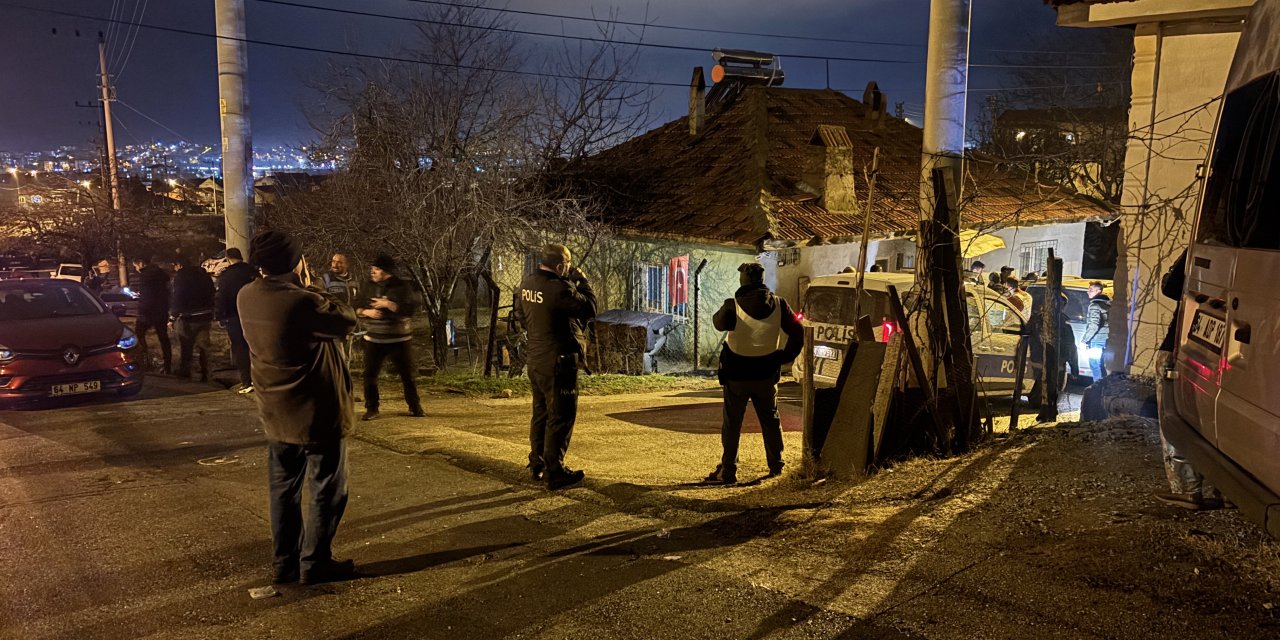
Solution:
<svg viewBox="0 0 1280 640">
<path fill-rule="evenodd" d="M 847 241 L 861 236 L 861 214 L 823 209 L 804 182 L 822 147 L 849 147 L 858 198 L 878 146 L 873 237 L 919 227 L 923 132 L 896 118 L 865 118 L 858 100 L 831 90 L 750 87 L 708 114 L 701 134 L 685 118 L 605 150 L 579 169 L 603 187 L 607 220 L 654 237 L 760 247 Z M 998 228 L 1111 216 L 1100 204 L 1036 183 L 988 159 L 968 163 L 961 224 Z"/>
</svg>

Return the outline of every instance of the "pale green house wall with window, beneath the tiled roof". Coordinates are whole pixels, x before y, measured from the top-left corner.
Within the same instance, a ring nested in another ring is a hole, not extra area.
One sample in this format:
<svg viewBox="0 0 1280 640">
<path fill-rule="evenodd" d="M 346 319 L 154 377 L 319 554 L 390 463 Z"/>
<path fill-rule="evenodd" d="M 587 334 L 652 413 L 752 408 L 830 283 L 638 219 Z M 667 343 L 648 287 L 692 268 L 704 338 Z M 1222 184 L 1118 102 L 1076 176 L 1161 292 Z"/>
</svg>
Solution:
<svg viewBox="0 0 1280 640">
<path fill-rule="evenodd" d="M 636 308 L 635 278 L 639 268 L 663 266 L 668 265 L 673 257 L 689 256 L 690 282 L 686 316 L 676 319 L 676 328 L 667 335 L 667 344 L 658 355 L 658 370 L 662 372 L 692 369 L 695 317 L 692 271 L 705 259 L 707 266 L 699 276 L 698 288 L 698 352 L 701 369 L 716 369 L 722 334 L 712 325 L 712 316 L 726 298 L 733 297 L 739 288 L 737 268 L 742 262 L 756 260 L 758 256 L 754 251 L 622 237 L 598 242 L 590 248 L 590 252 L 581 242 L 570 241 L 568 247 L 573 252 L 579 268 L 588 275 L 596 294 L 598 310 L 602 312 L 613 308 Z M 494 279 L 502 288 L 500 300 L 504 305 L 509 305 L 515 289 L 524 278 L 526 261 L 522 255 L 507 255 L 500 262 L 500 269 L 495 269 Z M 669 296 L 669 293 L 666 294 Z"/>
</svg>

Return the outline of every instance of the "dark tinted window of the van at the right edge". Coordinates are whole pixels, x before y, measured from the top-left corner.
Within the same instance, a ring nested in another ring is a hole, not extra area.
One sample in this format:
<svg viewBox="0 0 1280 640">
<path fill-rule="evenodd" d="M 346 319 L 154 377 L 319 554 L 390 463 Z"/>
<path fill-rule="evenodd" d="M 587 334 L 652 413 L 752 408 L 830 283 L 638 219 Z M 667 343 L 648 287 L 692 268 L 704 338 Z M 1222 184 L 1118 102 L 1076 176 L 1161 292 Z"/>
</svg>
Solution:
<svg viewBox="0 0 1280 640">
<path fill-rule="evenodd" d="M 1280 76 L 1258 78 L 1226 96 L 1219 122 L 1199 242 L 1280 250 Z"/>
</svg>

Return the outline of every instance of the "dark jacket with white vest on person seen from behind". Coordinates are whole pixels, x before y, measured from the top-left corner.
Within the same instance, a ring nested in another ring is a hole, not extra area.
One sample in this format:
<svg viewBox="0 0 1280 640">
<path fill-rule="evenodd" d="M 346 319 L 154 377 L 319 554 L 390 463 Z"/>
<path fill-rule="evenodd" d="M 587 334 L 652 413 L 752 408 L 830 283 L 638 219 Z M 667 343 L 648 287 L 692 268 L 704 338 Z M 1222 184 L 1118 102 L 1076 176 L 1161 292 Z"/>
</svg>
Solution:
<svg viewBox="0 0 1280 640">
<path fill-rule="evenodd" d="M 782 365 L 795 360 L 804 349 L 804 326 L 787 301 L 774 296 L 764 284 L 739 288 L 716 312 L 712 324 L 721 332 L 730 332 L 721 348 L 721 381 L 777 381 Z M 767 348 L 771 337 L 773 344 Z"/>
</svg>

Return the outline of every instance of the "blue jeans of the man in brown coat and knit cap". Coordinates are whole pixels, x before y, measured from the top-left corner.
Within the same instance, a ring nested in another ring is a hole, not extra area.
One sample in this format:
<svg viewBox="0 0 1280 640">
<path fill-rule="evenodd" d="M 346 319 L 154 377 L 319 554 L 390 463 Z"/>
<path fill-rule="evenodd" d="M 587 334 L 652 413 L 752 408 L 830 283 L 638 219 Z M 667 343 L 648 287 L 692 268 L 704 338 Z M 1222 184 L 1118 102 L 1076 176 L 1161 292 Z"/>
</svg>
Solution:
<svg viewBox="0 0 1280 640">
<path fill-rule="evenodd" d="M 268 442 L 271 485 L 271 543 L 275 568 L 298 567 L 306 575 L 316 563 L 333 559 L 333 536 L 347 509 L 347 444 L 288 444 Z M 311 506 L 302 526 L 302 481 Z"/>
</svg>

